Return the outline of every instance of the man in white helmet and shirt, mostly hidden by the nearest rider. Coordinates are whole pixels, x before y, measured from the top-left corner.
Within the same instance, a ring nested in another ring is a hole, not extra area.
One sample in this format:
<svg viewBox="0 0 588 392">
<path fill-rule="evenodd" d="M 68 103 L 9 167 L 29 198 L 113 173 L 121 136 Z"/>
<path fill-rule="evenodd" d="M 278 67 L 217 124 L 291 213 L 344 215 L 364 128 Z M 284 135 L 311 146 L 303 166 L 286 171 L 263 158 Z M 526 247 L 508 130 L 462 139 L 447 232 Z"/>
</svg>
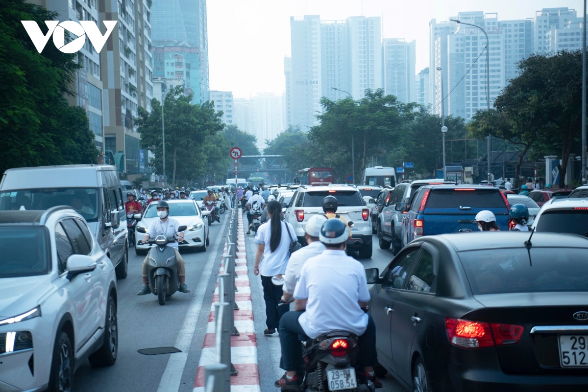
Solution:
<svg viewBox="0 0 588 392">
<path fill-rule="evenodd" d="M 319 235 L 320 228 L 326 221 L 327 218 L 325 215 L 313 215 L 306 222 L 304 238 L 308 245 L 303 246 L 290 255 L 288 266 L 286 266 L 286 273 L 284 274 L 284 285 L 282 287 L 284 295 L 282 296 L 282 302 L 292 302 L 296 280 L 300 276 L 300 269 L 302 269 L 304 263 L 309 258 L 318 256 L 325 251 L 325 245 L 319 241 Z"/>
</svg>

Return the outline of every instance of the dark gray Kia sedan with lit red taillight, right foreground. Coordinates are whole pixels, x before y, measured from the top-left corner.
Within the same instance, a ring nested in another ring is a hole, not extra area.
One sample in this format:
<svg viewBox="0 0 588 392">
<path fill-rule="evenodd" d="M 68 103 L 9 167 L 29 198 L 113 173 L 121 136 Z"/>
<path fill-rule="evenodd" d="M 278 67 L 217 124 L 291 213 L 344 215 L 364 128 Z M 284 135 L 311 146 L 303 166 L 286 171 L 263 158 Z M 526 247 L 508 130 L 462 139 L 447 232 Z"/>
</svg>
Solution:
<svg viewBox="0 0 588 392">
<path fill-rule="evenodd" d="M 588 239 L 425 236 L 368 269 L 380 372 L 414 391 L 586 391 Z"/>
</svg>

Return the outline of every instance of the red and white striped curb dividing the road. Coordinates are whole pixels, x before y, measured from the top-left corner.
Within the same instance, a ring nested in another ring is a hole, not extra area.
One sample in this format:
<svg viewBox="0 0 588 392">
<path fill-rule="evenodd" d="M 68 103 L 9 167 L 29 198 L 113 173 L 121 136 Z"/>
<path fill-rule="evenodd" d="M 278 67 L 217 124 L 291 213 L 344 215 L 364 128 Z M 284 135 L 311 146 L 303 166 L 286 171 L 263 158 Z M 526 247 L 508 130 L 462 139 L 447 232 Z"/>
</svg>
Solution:
<svg viewBox="0 0 588 392">
<path fill-rule="evenodd" d="M 230 360 L 238 371 L 236 376 L 230 377 L 230 390 L 232 392 L 260 392 L 257 339 L 253 326 L 253 307 L 251 304 L 251 287 L 247 268 L 247 256 L 245 252 L 245 234 L 243 231 L 243 215 L 239 209 L 237 229 L 237 256 L 235 259 L 235 286 L 238 292 L 235 293 L 235 302 L 239 310 L 235 310 L 235 327 L 239 336 L 230 337 Z M 223 255 L 226 254 L 226 244 Z M 220 265 L 220 273 L 223 272 L 223 264 Z M 218 302 L 218 283 L 216 284 L 213 303 Z M 215 312 L 214 305 L 208 316 L 208 327 L 202 354 L 198 363 L 196 380 L 194 381 L 193 392 L 203 392 L 205 389 L 204 367 L 215 363 Z"/>
</svg>

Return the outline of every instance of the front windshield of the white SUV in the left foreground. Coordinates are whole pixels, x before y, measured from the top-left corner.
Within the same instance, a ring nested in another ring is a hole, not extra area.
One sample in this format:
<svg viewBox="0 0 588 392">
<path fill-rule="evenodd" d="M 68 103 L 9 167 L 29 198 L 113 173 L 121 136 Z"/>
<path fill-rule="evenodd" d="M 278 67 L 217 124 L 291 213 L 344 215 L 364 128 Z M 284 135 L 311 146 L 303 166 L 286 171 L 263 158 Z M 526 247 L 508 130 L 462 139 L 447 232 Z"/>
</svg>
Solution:
<svg viewBox="0 0 588 392">
<path fill-rule="evenodd" d="M 0 279 L 51 271 L 44 227 L 0 227 Z"/>
</svg>

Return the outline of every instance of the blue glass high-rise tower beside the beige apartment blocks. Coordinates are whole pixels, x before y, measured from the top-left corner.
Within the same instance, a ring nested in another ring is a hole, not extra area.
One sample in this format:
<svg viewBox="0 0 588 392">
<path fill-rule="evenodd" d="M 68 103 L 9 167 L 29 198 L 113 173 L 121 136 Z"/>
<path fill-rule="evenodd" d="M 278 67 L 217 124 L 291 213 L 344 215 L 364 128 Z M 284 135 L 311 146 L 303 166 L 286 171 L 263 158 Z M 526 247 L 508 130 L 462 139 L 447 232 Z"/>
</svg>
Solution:
<svg viewBox="0 0 588 392">
<path fill-rule="evenodd" d="M 183 79 L 194 103 L 208 101 L 206 0 L 153 0 L 152 15 L 155 75 Z"/>
</svg>

